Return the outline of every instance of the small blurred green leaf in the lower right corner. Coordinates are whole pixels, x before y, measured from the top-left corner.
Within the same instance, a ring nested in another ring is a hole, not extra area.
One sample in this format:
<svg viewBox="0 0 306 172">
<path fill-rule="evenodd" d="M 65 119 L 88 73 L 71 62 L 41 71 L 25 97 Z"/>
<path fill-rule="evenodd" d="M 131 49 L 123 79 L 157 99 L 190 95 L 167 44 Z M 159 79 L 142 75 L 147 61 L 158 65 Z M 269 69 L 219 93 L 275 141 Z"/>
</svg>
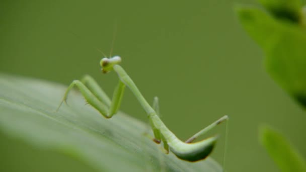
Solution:
<svg viewBox="0 0 306 172">
<path fill-rule="evenodd" d="M 268 126 L 262 126 L 259 137 L 281 171 L 306 171 L 306 161 L 280 133 Z"/>
</svg>

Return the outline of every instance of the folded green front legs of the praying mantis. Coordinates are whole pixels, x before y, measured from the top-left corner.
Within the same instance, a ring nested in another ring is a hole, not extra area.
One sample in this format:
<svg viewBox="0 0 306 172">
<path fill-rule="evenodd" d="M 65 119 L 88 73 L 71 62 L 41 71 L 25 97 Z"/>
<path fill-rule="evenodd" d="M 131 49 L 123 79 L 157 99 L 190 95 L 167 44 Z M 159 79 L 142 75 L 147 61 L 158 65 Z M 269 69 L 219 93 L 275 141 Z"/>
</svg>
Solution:
<svg viewBox="0 0 306 172">
<path fill-rule="evenodd" d="M 73 87 L 77 87 L 86 101 L 98 110 L 105 118 L 111 118 L 119 109 L 122 96 L 124 93 L 125 84 L 121 80 L 114 90 L 112 101 L 105 94 L 105 92 L 99 87 L 98 83 L 89 75 L 83 77 L 80 80 L 73 80 L 66 90 L 64 97 L 58 106 L 60 108 L 63 102 L 66 103 L 68 94 Z"/>
</svg>

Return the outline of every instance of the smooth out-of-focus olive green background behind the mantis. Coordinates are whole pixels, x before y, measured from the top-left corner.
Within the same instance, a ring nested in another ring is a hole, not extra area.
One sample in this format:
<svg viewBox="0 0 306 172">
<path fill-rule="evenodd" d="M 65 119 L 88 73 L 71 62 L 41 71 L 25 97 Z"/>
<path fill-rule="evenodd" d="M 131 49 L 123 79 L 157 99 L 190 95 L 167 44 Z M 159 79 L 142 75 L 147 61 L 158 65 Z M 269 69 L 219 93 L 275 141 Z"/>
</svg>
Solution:
<svg viewBox="0 0 306 172">
<path fill-rule="evenodd" d="M 117 30 L 113 55 L 122 57 L 149 102 L 159 96 L 162 119 L 178 137 L 185 140 L 226 114 L 226 169 L 277 171 L 258 143 L 259 124 L 278 128 L 306 155 L 306 115 L 265 72 L 263 52 L 239 24 L 236 3 L 256 2 L 2 0 L 0 71 L 66 85 L 90 74 L 111 95 L 117 77 L 101 73 L 102 55 L 94 47 L 108 55 Z M 121 110 L 147 120 L 130 92 Z M 222 163 L 225 125 L 214 133 L 221 137 L 212 156 Z M 18 165 L 18 154 L 27 154 L 20 161 L 47 159 L 63 169 L 79 164 L 20 140 L 0 139 L 2 165 Z"/>
</svg>

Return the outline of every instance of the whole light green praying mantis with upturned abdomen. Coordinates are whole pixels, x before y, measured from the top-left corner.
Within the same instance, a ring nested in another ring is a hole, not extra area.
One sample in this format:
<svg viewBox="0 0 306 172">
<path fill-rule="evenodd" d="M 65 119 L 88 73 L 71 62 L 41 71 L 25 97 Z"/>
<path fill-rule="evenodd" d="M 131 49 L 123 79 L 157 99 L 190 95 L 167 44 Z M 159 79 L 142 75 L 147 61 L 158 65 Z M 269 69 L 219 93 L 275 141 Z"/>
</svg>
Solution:
<svg viewBox="0 0 306 172">
<path fill-rule="evenodd" d="M 125 86 L 127 86 L 137 98 L 148 116 L 150 126 L 154 133 L 154 138 L 152 138 L 152 140 L 154 140 L 156 143 L 163 142 L 166 153 L 171 150 L 177 157 L 187 161 L 198 161 L 206 158 L 215 146 L 217 136 L 209 137 L 195 143 L 192 142 L 197 137 L 206 133 L 216 125 L 228 120 L 228 117 L 226 115 L 221 117 L 217 121 L 213 122 L 209 126 L 205 127 L 190 137 L 187 141 L 181 141 L 166 127 L 163 121 L 159 118 L 158 99 L 155 99 L 154 105 L 151 107 L 141 95 L 133 80 L 128 76 L 124 69 L 118 65 L 120 62 L 121 58 L 119 56 L 102 58 L 100 61 L 103 73 L 114 70 L 119 76 L 119 83 L 114 90 L 112 100 L 109 99 L 109 97 L 99 87 L 97 82 L 91 76 L 87 75 L 81 81 L 72 81 L 67 91 L 65 92 L 63 100 L 58 106 L 57 110 L 63 102 L 66 102 L 69 91 L 74 86 L 77 86 L 91 106 L 97 109 L 104 117 L 111 118 L 118 111 Z"/>
</svg>

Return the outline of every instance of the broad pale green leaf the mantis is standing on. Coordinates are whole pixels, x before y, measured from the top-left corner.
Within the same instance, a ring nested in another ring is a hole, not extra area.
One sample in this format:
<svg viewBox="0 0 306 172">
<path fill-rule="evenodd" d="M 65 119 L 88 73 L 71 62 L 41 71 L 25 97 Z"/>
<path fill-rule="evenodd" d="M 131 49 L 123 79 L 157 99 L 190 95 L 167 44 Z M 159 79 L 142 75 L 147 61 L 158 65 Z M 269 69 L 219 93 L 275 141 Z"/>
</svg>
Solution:
<svg viewBox="0 0 306 172">
<path fill-rule="evenodd" d="M 41 150 L 54 150 L 98 171 L 222 171 L 212 158 L 187 162 L 143 136 L 149 127 L 120 112 L 105 119 L 66 86 L 0 74 L 0 131 Z M 52 162 L 50 162 L 52 163 Z"/>
</svg>

